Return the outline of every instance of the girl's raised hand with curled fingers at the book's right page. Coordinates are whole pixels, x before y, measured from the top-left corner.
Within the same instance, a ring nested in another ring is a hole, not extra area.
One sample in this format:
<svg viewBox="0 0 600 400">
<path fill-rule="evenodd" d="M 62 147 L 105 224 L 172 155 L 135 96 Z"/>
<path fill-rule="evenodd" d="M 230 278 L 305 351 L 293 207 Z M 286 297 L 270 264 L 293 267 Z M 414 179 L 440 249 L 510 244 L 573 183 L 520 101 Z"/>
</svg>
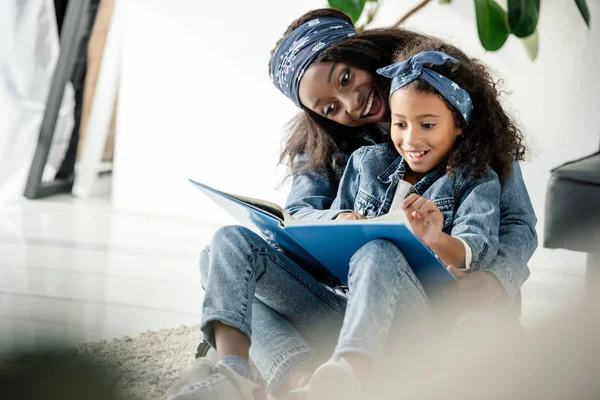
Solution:
<svg viewBox="0 0 600 400">
<path fill-rule="evenodd" d="M 400 203 L 400 208 L 408 216 L 415 235 L 428 247 L 435 246 L 442 235 L 444 216 L 433 201 L 413 193 Z"/>
</svg>

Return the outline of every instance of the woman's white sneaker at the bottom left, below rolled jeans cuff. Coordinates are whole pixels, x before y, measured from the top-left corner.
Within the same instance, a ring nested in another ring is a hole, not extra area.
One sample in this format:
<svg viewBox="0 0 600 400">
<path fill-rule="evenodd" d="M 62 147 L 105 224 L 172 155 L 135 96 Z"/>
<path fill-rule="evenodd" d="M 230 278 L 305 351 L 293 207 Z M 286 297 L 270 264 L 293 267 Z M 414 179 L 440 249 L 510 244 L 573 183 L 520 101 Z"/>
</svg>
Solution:
<svg viewBox="0 0 600 400">
<path fill-rule="evenodd" d="M 210 362 L 210 360 L 207 360 Z M 244 378 L 222 362 L 212 369 L 212 374 L 181 390 L 170 400 L 262 400 L 264 390 L 254 381 Z"/>
</svg>

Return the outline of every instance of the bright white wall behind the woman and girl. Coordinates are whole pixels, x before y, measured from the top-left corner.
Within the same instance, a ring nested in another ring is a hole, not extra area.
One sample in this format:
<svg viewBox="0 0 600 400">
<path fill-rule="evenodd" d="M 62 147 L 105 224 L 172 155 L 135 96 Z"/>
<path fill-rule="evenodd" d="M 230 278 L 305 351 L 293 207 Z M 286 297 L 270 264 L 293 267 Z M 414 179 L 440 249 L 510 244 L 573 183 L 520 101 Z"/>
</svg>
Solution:
<svg viewBox="0 0 600 400">
<path fill-rule="evenodd" d="M 374 26 L 395 22 L 413 3 L 384 1 Z M 532 144 L 523 172 L 540 237 L 549 170 L 600 142 L 600 5 L 588 1 L 587 30 L 572 0 L 542 3 L 534 63 L 514 37 L 486 54 L 469 0 L 432 2 L 407 25 L 482 57 L 504 78 L 508 106 Z M 324 4 L 128 1 L 115 206 L 229 222 L 186 182 L 190 177 L 283 203 L 285 190 L 275 190 L 283 172 L 276 163 L 283 125 L 296 110 L 269 80 L 269 51 L 294 18 Z M 581 254 L 564 251 L 541 250 L 535 257 L 544 265 L 583 262 Z"/>
</svg>

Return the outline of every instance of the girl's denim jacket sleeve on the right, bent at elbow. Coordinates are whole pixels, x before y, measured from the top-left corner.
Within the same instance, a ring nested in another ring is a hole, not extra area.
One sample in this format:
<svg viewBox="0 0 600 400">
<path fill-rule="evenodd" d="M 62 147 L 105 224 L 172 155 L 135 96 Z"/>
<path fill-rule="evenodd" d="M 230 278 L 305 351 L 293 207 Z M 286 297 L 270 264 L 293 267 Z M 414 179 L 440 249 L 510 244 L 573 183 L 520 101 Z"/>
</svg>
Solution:
<svg viewBox="0 0 600 400">
<path fill-rule="evenodd" d="M 471 269 L 488 265 L 496 256 L 499 229 L 500 181 L 490 170 L 485 177 L 468 179 L 454 215 L 451 234 L 471 248 Z"/>
</svg>

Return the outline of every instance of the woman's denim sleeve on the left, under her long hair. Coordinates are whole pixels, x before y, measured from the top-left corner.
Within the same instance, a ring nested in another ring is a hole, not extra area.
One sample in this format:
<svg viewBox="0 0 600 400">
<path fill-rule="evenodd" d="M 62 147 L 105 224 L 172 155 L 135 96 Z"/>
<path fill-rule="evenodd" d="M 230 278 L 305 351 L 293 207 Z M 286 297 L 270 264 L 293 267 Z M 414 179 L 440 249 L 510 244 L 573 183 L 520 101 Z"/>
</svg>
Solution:
<svg viewBox="0 0 600 400">
<path fill-rule="evenodd" d="M 307 161 L 306 155 L 296 158 L 296 165 Z M 295 219 L 334 219 L 342 210 L 330 210 L 338 189 L 338 181 L 317 172 L 302 172 L 292 177 L 292 189 L 285 209 Z"/>
</svg>

